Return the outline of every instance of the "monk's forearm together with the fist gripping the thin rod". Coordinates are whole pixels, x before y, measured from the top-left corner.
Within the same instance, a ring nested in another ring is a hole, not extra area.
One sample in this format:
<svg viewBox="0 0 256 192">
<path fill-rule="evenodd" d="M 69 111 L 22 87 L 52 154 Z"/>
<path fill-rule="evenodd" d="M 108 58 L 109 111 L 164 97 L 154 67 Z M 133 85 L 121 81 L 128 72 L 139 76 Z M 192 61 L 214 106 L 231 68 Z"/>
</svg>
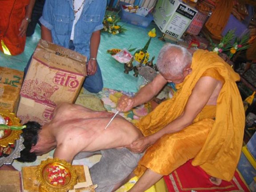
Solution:
<svg viewBox="0 0 256 192">
<path fill-rule="evenodd" d="M 158 74 L 154 80 L 142 87 L 135 97 L 129 98 L 123 95 L 117 104 L 117 109 L 120 111 L 128 111 L 135 106 L 150 101 L 159 91 L 165 86 L 167 80 L 161 74 Z"/>
</svg>

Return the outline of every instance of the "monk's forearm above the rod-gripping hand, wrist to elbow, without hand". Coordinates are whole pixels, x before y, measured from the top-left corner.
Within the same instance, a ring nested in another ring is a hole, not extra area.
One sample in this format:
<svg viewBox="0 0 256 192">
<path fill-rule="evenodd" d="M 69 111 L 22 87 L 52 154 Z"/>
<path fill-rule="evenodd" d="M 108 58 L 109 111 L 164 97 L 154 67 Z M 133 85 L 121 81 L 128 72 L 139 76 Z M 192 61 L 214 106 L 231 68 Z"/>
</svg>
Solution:
<svg viewBox="0 0 256 192">
<path fill-rule="evenodd" d="M 142 87 L 133 97 L 133 107 L 150 101 L 165 86 L 167 80 L 161 74 L 158 74 L 152 82 Z"/>
</svg>

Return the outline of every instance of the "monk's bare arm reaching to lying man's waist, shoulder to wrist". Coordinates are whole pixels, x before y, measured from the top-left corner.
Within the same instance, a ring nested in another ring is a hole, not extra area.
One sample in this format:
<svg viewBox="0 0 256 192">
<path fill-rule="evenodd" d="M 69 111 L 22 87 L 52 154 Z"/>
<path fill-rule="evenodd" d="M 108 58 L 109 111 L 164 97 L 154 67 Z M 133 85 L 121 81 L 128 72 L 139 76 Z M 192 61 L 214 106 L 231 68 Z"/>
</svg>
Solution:
<svg viewBox="0 0 256 192">
<path fill-rule="evenodd" d="M 157 133 L 150 136 L 150 143 L 155 143 L 159 138 L 168 133 L 174 133 L 181 131 L 183 128 L 191 125 L 194 118 L 201 112 L 204 106 L 207 104 L 212 93 L 217 87 L 218 80 L 209 76 L 204 76 L 196 83 L 187 105 L 185 106 L 184 112 L 181 116 L 177 117 L 165 128 L 161 129 Z"/>
</svg>

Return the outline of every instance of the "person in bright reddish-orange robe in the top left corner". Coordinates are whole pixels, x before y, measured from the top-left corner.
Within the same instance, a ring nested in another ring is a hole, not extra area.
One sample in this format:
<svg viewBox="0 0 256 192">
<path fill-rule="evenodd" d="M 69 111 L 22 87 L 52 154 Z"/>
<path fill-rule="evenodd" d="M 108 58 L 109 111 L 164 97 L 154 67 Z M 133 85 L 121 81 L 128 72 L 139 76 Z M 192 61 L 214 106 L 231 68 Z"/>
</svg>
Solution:
<svg viewBox="0 0 256 192">
<path fill-rule="evenodd" d="M 0 0 L 0 50 L 8 55 L 24 51 L 26 30 L 35 0 Z"/>
</svg>

